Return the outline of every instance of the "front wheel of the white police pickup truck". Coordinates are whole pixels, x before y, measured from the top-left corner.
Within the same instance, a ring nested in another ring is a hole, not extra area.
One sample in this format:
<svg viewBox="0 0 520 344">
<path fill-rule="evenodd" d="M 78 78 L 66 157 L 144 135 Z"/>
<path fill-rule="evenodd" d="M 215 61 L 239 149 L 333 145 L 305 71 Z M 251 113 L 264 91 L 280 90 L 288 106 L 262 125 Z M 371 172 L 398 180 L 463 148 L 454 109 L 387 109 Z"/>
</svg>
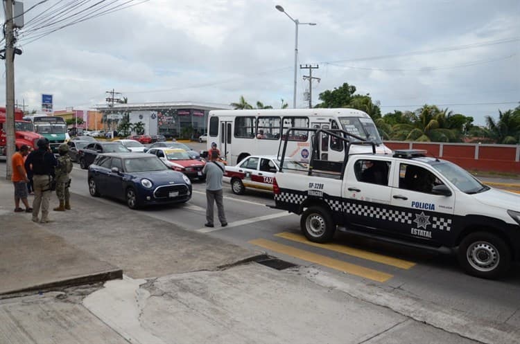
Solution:
<svg viewBox="0 0 520 344">
<path fill-rule="evenodd" d="M 500 237 L 476 232 L 460 242 L 458 260 L 469 275 L 494 279 L 509 270 L 511 251 Z"/>
</svg>

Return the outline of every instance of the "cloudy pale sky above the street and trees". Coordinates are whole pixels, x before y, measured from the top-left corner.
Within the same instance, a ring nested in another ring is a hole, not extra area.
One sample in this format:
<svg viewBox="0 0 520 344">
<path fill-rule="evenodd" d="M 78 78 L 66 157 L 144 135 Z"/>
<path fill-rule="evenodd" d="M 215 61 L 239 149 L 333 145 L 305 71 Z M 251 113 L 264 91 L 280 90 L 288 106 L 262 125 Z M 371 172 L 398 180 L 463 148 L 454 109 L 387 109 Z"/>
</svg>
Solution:
<svg viewBox="0 0 520 344">
<path fill-rule="evenodd" d="M 41 1 L 25 0 L 24 8 Z M 39 26 L 67 24 L 98 0 L 47 0 L 27 12 L 18 30 L 17 102 L 39 110 L 48 93 L 55 110 L 89 109 L 115 89 L 130 103 L 229 105 L 244 96 L 292 107 L 295 24 L 276 5 L 317 24 L 300 25 L 298 39 L 298 66 L 319 66 L 313 105 L 344 82 L 381 102 L 383 114 L 429 104 L 483 124 L 520 101 L 519 0 L 128 1 L 98 6 L 137 5 L 40 38 L 49 27 Z M 57 17 L 60 6 L 70 11 Z M 309 71 L 298 69 L 297 107 L 308 105 L 303 75 Z"/>
</svg>

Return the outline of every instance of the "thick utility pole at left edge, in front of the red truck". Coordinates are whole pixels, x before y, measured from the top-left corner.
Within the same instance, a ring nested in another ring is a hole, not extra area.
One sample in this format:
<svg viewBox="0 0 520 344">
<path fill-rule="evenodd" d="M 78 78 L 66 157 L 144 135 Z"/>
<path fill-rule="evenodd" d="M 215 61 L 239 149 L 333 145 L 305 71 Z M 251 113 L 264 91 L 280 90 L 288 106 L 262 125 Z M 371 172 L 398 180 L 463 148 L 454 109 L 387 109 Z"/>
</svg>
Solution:
<svg viewBox="0 0 520 344">
<path fill-rule="evenodd" d="M 11 156 L 15 154 L 15 35 L 12 0 L 6 3 L 6 179 L 11 179 Z"/>
</svg>

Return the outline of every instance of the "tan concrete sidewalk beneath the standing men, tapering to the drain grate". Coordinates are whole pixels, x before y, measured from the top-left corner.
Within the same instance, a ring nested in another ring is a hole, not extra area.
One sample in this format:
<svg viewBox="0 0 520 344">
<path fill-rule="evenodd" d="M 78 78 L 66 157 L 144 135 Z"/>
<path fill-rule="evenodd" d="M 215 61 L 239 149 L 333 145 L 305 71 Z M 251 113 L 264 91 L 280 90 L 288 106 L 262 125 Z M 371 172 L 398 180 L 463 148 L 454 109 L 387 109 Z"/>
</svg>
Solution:
<svg viewBox="0 0 520 344">
<path fill-rule="evenodd" d="M 155 278 L 216 270 L 263 254 L 77 194 L 71 194 L 72 210 L 51 210 L 51 223 L 35 224 L 31 214 L 13 211 L 13 193 L 12 183 L 1 180 L 0 295 L 111 280 L 123 273 Z M 53 194 L 51 208 L 56 204 Z"/>
</svg>

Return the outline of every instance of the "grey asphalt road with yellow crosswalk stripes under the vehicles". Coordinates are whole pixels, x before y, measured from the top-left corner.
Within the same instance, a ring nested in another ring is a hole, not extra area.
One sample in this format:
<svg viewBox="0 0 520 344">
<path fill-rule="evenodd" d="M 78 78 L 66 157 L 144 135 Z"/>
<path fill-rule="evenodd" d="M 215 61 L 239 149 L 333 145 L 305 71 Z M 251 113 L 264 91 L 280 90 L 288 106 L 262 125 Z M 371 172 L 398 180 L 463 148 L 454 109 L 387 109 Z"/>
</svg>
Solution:
<svg viewBox="0 0 520 344">
<path fill-rule="evenodd" d="M 200 150 L 205 145 L 191 144 Z M 5 163 L 0 163 L 5 175 Z M 74 164 L 71 192 L 89 197 L 87 171 Z M 193 197 L 183 205 L 137 210 L 143 216 L 177 224 L 220 237 L 234 244 L 268 251 L 270 255 L 302 266 L 333 273 L 350 282 L 364 282 L 395 295 L 420 298 L 483 320 L 508 323 L 520 328 L 520 266 L 499 281 L 481 280 L 465 275 L 454 257 L 424 253 L 410 248 L 336 233 L 333 244 L 316 245 L 300 233 L 300 218 L 272 210 L 272 195 L 248 190 L 232 193 L 225 185 L 225 210 L 229 226 L 205 228 L 205 184 L 193 183 Z M 126 208 L 124 203 L 98 198 L 110 207 Z M 127 208 L 128 212 L 132 212 Z M 135 211 L 135 210 L 134 210 Z"/>
</svg>

